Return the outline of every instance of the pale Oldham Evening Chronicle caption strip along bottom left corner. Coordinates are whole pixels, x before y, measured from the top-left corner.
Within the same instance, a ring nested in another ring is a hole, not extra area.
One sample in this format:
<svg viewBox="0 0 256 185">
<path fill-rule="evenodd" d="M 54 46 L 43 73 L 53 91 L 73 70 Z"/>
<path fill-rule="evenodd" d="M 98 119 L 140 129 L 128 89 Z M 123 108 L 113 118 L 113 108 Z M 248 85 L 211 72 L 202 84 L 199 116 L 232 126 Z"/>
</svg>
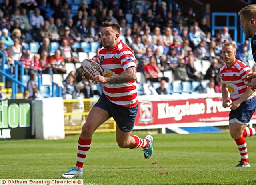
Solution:
<svg viewBox="0 0 256 185">
<path fill-rule="evenodd" d="M 83 185 L 84 179 L 0 179 L 0 185 Z"/>
</svg>

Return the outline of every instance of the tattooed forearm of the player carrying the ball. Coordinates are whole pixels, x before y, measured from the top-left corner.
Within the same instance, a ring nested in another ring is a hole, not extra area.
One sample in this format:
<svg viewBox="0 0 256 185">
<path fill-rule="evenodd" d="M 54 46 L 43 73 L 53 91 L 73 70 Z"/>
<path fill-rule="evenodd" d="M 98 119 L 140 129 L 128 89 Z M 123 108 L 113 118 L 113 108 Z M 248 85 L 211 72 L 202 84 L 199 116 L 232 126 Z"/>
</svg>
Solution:
<svg viewBox="0 0 256 185">
<path fill-rule="evenodd" d="M 107 83 L 120 84 L 120 83 L 129 82 L 129 81 L 135 80 L 135 79 L 136 79 L 136 67 L 132 66 L 132 67 L 127 68 L 125 71 L 123 71 L 120 74 L 108 77 Z"/>
</svg>

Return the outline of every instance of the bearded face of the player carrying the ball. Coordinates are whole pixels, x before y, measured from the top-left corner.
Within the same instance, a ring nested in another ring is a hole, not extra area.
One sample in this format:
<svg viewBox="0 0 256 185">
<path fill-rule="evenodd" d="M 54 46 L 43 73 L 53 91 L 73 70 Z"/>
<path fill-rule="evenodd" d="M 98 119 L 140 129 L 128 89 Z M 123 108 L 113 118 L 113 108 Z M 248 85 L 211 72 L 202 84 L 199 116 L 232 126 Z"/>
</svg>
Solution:
<svg viewBox="0 0 256 185">
<path fill-rule="evenodd" d="M 119 34 L 112 27 L 103 27 L 101 29 L 102 45 L 104 48 L 111 49 L 115 46 L 115 40 Z"/>
</svg>

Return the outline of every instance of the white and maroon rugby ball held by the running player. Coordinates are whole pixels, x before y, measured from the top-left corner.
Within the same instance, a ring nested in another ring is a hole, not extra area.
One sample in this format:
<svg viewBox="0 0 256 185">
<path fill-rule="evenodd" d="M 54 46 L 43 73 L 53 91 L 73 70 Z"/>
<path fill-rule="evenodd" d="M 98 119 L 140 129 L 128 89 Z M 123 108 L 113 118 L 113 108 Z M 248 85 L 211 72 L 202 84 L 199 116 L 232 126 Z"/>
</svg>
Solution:
<svg viewBox="0 0 256 185">
<path fill-rule="evenodd" d="M 85 59 L 82 62 L 81 68 L 88 80 L 92 80 L 95 75 L 103 76 L 103 70 L 100 67 L 100 64 L 92 59 Z"/>
</svg>

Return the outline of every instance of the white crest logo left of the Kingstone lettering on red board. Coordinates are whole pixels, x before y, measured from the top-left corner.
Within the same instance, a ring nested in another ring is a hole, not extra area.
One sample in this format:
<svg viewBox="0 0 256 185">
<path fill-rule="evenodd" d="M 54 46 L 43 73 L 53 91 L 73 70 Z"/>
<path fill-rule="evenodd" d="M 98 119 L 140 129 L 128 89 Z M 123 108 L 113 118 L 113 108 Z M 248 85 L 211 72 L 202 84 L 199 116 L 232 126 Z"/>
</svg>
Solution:
<svg viewBox="0 0 256 185">
<path fill-rule="evenodd" d="M 149 123 L 154 119 L 152 118 L 153 105 L 151 102 L 140 103 L 140 123 Z"/>
</svg>

